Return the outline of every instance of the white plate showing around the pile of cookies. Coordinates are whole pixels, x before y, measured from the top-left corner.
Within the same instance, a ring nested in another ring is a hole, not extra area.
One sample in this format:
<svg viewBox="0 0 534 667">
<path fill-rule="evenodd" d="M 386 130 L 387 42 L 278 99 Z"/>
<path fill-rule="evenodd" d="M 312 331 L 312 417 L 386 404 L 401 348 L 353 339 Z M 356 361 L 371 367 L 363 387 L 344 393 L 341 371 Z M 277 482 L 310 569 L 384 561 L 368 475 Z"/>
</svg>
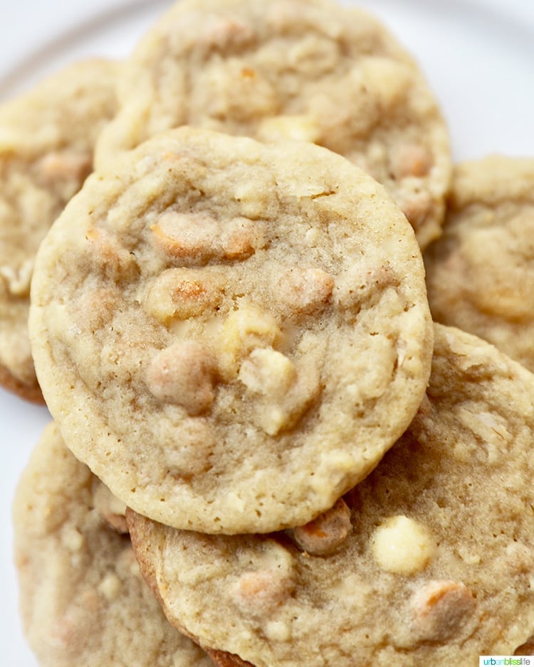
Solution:
<svg viewBox="0 0 534 667">
<path fill-rule="evenodd" d="M 267 1 L 267 0 L 266 0 Z M 170 0 L 0 0 L 0 100 L 85 55 L 122 57 Z M 418 58 L 449 123 L 456 159 L 534 156 L 534 3 L 360 0 Z M 11 498 L 44 408 L 0 389 L 0 662 L 36 667 L 17 613 Z M 73 666 L 74 667 L 74 666 Z M 103 666 L 112 667 L 112 666 Z M 132 666 L 135 667 L 135 666 Z"/>
</svg>

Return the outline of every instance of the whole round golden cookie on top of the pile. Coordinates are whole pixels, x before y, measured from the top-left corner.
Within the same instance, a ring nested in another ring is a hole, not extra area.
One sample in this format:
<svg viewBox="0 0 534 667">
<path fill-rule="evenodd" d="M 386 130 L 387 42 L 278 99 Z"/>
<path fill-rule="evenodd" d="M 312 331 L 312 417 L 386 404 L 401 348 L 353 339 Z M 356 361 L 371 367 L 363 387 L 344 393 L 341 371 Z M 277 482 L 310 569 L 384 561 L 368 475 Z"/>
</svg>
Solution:
<svg viewBox="0 0 534 667">
<path fill-rule="evenodd" d="M 30 330 L 66 444 L 177 528 L 307 523 L 417 411 L 414 233 L 331 151 L 182 127 L 95 172 L 41 245 Z"/>
</svg>

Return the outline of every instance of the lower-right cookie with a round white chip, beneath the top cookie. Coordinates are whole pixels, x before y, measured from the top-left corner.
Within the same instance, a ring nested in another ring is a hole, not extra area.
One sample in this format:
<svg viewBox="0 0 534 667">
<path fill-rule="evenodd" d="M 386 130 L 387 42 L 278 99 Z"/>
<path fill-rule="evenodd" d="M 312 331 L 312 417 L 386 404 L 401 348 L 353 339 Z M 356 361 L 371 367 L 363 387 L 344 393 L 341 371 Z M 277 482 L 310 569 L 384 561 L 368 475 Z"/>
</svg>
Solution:
<svg viewBox="0 0 534 667">
<path fill-rule="evenodd" d="M 534 376 L 436 325 L 412 425 L 320 520 L 204 535 L 127 510 L 132 544 L 169 620 L 220 665 L 511 655 L 534 629 L 533 437 Z"/>
</svg>

